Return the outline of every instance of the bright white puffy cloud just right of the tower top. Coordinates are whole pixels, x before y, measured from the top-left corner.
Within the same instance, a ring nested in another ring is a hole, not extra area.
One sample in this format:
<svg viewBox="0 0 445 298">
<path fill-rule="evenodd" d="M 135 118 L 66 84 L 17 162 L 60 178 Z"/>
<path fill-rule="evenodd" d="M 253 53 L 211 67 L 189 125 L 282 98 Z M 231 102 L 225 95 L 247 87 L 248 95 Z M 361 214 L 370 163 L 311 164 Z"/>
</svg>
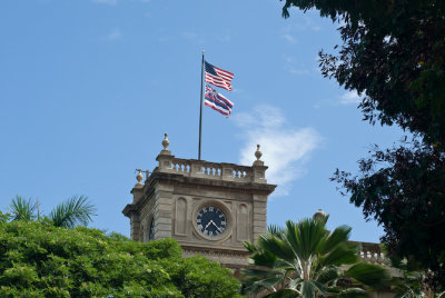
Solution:
<svg viewBox="0 0 445 298">
<path fill-rule="evenodd" d="M 234 116 L 245 143 L 240 163 L 251 165 L 256 145 L 261 146 L 261 160 L 269 167 L 268 182 L 277 183 L 276 196 L 287 196 L 289 185 L 305 175 L 305 162 L 319 146 L 322 137 L 310 127 L 293 128 L 281 111 L 273 106 L 258 106 L 251 113 Z"/>
</svg>

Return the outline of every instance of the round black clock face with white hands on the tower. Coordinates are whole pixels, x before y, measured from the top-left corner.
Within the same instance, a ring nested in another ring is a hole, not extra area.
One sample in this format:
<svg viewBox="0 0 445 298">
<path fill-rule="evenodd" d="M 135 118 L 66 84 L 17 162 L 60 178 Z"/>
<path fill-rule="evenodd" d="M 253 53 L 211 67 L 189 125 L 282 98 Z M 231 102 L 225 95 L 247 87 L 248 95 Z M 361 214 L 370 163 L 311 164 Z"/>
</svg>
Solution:
<svg viewBox="0 0 445 298">
<path fill-rule="evenodd" d="M 196 225 L 201 234 L 217 237 L 226 230 L 227 219 L 219 208 L 206 206 L 196 215 Z"/>
</svg>

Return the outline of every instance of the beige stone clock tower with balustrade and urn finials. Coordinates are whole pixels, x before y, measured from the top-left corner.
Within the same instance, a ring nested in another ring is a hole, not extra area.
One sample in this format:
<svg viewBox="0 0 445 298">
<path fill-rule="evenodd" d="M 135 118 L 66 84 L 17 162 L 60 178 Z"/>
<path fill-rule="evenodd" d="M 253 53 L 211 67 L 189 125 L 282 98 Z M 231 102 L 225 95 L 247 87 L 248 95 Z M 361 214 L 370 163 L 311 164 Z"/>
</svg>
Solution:
<svg viewBox="0 0 445 298">
<path fill-rule="evenodd" d="M 247 264 L 243 241 L 266 231 L 267 198 L 275 185 L 265 178 L 259 146 L 251 167 L 180 159 L 164 150 L 158 167 L 132 188 L 134 200 L 122 210 L 130 218 L 131 238 L 175 238 L 185 256 L 200 254 L 238 268 Z"/>
</svg>

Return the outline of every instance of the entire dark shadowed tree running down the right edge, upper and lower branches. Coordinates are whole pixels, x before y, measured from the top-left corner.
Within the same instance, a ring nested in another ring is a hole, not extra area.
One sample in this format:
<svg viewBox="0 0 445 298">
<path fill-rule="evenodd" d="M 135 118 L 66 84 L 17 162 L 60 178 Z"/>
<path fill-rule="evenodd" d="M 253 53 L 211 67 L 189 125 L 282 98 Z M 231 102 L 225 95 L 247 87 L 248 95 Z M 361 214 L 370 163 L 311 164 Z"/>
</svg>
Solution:
<svg viewBox="0 0 445 298">
<path fill-rule="evenodd" d="M 285 0 L 284 17 L 291 7 L 338 22 L 343 42 L 319 52 L 322 72 L 363 96 L 364 119 L 414 135 L 333 180 L 383 225 L 390 256 L 445 289 L 445 1 Z"/>
</svg>

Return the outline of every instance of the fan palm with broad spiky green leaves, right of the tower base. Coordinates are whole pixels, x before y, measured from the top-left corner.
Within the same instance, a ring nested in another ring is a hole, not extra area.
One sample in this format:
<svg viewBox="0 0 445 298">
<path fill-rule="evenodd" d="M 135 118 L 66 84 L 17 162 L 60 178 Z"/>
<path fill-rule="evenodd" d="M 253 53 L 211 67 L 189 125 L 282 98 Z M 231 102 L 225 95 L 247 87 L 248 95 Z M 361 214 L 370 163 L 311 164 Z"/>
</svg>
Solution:
<svg viewBox="0 0 445 298">
<path fill-rule="evenodd" d="M 326 229 L 327 216 L 271 226 L 257 246 L 245 242 L 254 266 L 244 270 L 246 291 L 266 297 L 367 297 L 366 289 L 389 280 L 388 272 L 359 261 L 347 242 L 352 228 Z"/>
</svg>

